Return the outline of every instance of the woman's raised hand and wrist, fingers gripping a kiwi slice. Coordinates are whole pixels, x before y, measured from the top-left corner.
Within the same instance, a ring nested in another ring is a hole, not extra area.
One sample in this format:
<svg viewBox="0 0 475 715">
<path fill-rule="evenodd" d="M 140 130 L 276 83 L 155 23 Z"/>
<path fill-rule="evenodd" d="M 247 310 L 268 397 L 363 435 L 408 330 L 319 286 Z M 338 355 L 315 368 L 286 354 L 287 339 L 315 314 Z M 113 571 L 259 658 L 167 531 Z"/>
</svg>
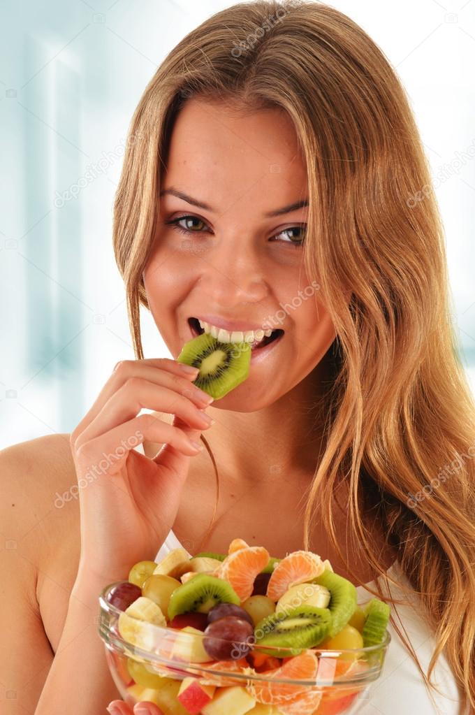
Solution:
<svg viewBox="0 0 475 715">
<path fill-rule="evenodd" d="M 137 561 L 153 561 L 179 508 L 189 460 L 209 427 L 209 395 L 191 384 L 176 360 L 125 360 L 71 434 L 81 510 L 81 579 L 127 578 Z M 142 408 L 174 414 L 173 424 Z M 138 416 L 137 416 L 138 415 Z M 165 445 L 150 459 L 136 452 L 149 440 Z"/>
</svg>

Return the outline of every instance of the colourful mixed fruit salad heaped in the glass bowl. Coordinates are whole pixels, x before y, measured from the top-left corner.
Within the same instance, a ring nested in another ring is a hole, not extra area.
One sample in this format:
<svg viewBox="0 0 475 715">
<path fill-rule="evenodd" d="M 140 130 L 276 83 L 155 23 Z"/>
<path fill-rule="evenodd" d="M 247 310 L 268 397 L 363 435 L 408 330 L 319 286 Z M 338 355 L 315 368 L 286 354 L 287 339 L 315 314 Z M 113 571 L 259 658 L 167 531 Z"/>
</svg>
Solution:
<svg viewBox="0 0 475 715">
<path fill-rule="evenodd" d="M 389 606 L 359 606 L 328 560 L 272 558 L 240 538 L 227 554 L 176 548 L 140 561 L 104 593 L 118 614 L 109 629 L 126 645 L 119 657 L 109 643 L 113 675 L 131 704 L 149 700 L 169 715 L 346 712 L 390 641 Z"/>
</svg>

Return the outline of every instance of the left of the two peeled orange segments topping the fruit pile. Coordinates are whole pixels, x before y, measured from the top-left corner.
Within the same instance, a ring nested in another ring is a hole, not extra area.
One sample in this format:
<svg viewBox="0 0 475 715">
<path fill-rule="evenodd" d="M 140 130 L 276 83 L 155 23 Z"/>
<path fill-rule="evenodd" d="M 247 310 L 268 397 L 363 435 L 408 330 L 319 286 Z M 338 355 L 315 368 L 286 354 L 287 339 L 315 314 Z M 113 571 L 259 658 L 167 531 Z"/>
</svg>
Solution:
<svg viewBox="0 0 475 715">
<path fill-rule="evenodd" d="M 268 563 L 269 551 L 264 546 L 245 546 L 226 556 L 213 576 L 229 581 L 242 603 L 251 596 L 254 579 Z"/>
</svg>

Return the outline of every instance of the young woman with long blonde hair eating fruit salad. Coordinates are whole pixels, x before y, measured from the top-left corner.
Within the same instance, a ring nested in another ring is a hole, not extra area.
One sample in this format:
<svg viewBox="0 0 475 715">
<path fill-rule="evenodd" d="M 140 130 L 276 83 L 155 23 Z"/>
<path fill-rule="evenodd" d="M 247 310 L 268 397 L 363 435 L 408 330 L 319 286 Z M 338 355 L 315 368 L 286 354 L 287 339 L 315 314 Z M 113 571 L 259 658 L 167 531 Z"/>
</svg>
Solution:
<svg viewBox="0 0 475 715">
<path fill-rule="evenodd" d="M 391 600 L 363 712 L 475 706 L 475 405 L 430 187 L 393 69 L 329 6 L 238 4 L 167 56 L 114 207 L 136 360 L 71 435 L 0 455 L 17 547 L 1 562 L 3 672 L 21 711 L 131 713 L 96 632 L 99 591 L 179 543 L 224 551 L 236 536 L 315 551 Z M 174 358 L 199 321 L 228 340 L 276 332 L 209 406 L 196 373 L 144 358 L 140 305 Z"/>
</svg>

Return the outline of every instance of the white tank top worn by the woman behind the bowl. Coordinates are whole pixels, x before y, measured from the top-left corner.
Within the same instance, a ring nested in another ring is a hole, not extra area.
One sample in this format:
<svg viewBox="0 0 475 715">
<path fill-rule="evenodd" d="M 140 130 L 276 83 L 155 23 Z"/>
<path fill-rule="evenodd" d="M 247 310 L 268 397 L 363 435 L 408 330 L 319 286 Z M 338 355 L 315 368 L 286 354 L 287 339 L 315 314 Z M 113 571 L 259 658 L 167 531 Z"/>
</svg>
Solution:
<svg viewBox="0 0 475 715">
<path fill-rule="evenodd" d="M 136 449 L 142 454 L 144 453 L 144 448 L 141 444 Z M 170 530 L 155 557 L 155 561 L 159 563 L 173 548 L 183 547 L 174 532 Z M 397 561 L 393 563 L 386 573 L 394 578 L 396 582 L 409 586 L 409 581 L 407 581 Z M 371 581 L 356 588 L 359 604 L 364 604 L 370 598 L 373 598 L 373 594 L 369 593 L 365 586 L 374 587 L 375 582 Z M 393 598 L 404 598 L 399 588 L 391 586 L 390 591 Z M 391 611 L 398 627 L 403 633 L 406 631 L 406 638 L 409 639 L 411 646 L 416 651 L 424 673 L 427 673 L 429 661 L 435 648 L 435 639 L 429 629 L 429 625 L 424 621 L 424 618 L 421 618 L 421 608 L 418 607 L 416 593 L 414 591 L 412 593 L 409 603 L 406 602 L 402 606 L 391 606 Z M 432 674 L 432 681 L 435 682 L 443 695 L 439 695 L 431 689 L 431 694 L 433 694 L 434 698 L 432 700 L 416 664 L 404 648 L 391 623 L 389 623 L 388 629 L 392 640 L 384 661 L 383 672 L 374 685 L 368 705 L 359 711 L 359 715 L 401 715 L 405 713 L 417 713 L 417 715 L 469 715 L 468 708 L 460 711 L 459 691 L 444 654 L 439 657 Z"/>
</svg>

